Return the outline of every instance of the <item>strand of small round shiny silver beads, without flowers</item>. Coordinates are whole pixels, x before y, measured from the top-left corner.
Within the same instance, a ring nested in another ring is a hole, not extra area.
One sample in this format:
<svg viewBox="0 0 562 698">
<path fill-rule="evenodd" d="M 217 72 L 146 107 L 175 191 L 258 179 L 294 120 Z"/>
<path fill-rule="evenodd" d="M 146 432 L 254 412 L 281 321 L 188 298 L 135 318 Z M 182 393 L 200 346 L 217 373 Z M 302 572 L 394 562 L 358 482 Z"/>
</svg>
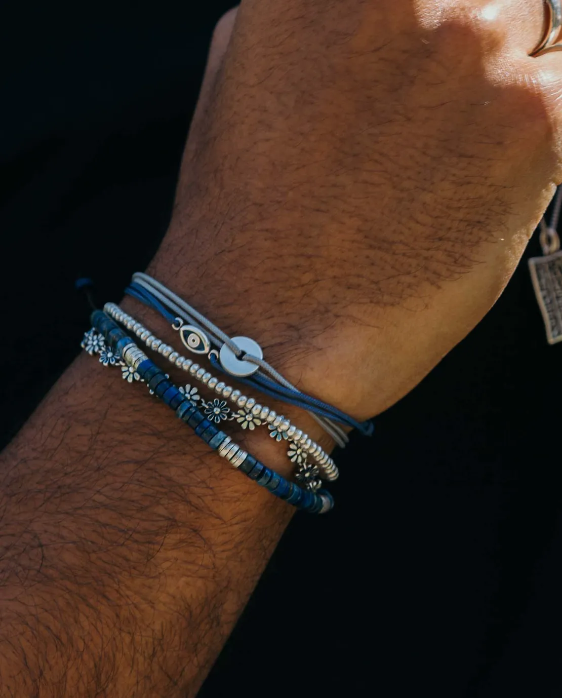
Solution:
<svg viewBox="0 0 562 698">
<path fill-rule="evenodd" d="M 254 398 L 243 395 L 240 390 L 235 390 L 231 385 L 227 385 L 224 381 L 219 380 L 213 376 L 212 373 L 209 373 L 206 369 L 202 368 L 202 366 L 199 366 L 199 364 L 192 362 L 191 359 L 187 359 L 185 356 L 181 356 L 172 346 L 162 342 L 162 340 L 154 336 L 149 329 L 146 329 L 144 325 L 121 310 L 117 304 L 106 303 L 104 311 L 108 315 L 111 315 L 116 322 L 124 325 L 130 332 L 134 332 L 149 349 L 161 354 L 168 359 L 170 363 L 174 364 L 176 368 L 190 373 L 193 378 L 197 378 L 197 380 L 204 383 L 209 389 L 214 390 L 215 393 L 226 399 L 230 399 L 239 408 L 245 408 L 249 414 L 261 419 L 262 422 L 271 424 L 275 429 L 280 431 L 280 433 L 287 433 L 288 439 L 298 444 L 303 451 L 310 454 L 314 461 L 318 463 L 321 476 L 324 480 L 330 482 L 337 480 L 340 473 L 331 456 L 328 456 L 321 446 L 309 438 L 307 433 L 304 433 L 302 429 L 297 429 L 294 424 L 291 424 L 289 419 L 286 419 L 283 415 L 278 415 L 275 410 L 270 410 L 268 407 L 260 405 Z"/>
</svg>

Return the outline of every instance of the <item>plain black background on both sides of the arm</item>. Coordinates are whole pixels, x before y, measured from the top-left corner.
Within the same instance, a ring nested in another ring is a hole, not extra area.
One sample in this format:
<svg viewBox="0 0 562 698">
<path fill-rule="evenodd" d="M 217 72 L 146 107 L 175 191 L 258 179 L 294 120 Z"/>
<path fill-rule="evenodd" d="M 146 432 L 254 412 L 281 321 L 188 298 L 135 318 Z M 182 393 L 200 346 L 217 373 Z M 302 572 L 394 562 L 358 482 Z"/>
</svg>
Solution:
<svg viewBox="0 0 562 698">
<path fill-rule="evenodd" d="M 164 235 L 231 3 L 1 9 L 1 440 L 79 352 L 79 276 L 119 299 Z M 533 240 L 526 257 L 538 253 Z M 561 346 L 524 260 L 298 515 L 200 695 L 562 695 Z"/>
</svg>

